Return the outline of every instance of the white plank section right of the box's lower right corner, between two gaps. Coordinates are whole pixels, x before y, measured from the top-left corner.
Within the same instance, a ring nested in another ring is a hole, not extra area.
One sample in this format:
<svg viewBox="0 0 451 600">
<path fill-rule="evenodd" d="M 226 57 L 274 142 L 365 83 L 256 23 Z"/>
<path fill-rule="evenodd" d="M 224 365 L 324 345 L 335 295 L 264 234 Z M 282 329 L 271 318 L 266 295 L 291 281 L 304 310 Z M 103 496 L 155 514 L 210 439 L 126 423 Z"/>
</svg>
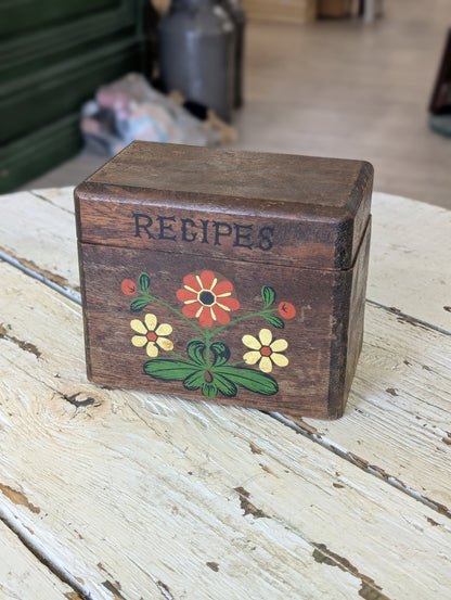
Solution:
<svg viewBox="0 0 451 600">
<path fill-rule="evenodd" d="M 450 336 L 370 305 L 345 416 L 302 431 L 451 516 L 450 365 Z"/>
</svg>

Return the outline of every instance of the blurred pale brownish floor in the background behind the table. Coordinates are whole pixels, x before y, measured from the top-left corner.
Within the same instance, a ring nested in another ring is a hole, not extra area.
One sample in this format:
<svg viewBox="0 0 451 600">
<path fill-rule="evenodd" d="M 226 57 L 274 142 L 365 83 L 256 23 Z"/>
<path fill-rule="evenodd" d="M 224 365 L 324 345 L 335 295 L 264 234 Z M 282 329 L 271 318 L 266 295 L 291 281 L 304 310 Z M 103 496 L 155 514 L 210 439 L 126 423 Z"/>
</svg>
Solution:
<svg viewBox="0 0 451 600">
<path fill-rule="evenodd" d="M 366 159 L 375 190 L 451 209 L 451 139 L 427 126 L 448 27 L 450 0 L 388 0 L 372 24 L 248 23 L 232 148 Z M 76 184 L 105 159 L 83 151 L 25 189 Z"/>
</svg>

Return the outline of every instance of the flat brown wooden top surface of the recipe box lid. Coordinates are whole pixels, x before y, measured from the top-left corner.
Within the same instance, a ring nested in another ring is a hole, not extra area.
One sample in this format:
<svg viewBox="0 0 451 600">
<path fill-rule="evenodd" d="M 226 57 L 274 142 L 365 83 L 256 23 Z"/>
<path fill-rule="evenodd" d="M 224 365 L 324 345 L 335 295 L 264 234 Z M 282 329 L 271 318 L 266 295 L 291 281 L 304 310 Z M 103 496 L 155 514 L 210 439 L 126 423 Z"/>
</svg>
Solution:
<svg viewBox="0 0 451 600">
<path fill-rule="evenodd" d="M 372 176 L 363 161 L 133 141 L 86 182 L 134 188 L 139 197 L 160 190 L 168 205 L 182 192 L 240 199 L 244 209 L 246 199 L 263 207 L 295 203 L 300 215 L 315 216 L 319 207 L 355 214 Z"/>
</svg>

